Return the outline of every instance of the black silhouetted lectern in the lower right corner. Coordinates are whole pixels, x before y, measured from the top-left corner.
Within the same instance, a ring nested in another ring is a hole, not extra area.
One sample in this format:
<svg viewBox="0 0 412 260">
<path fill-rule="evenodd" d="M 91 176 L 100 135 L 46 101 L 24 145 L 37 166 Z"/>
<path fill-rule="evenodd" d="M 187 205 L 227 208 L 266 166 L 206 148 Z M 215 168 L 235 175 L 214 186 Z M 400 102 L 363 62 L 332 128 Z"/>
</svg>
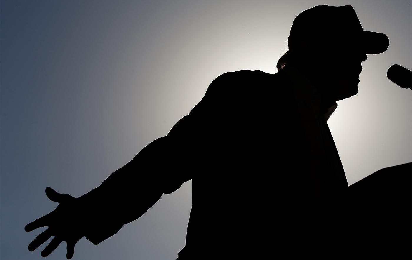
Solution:
<svg viewBox="0 0 412 260">
<path fill-rule="evenodd" d="M 411 259 L 412 163 L 380 169 L 349 186 L 352 245 L 363 259 Z"/>
</svg>

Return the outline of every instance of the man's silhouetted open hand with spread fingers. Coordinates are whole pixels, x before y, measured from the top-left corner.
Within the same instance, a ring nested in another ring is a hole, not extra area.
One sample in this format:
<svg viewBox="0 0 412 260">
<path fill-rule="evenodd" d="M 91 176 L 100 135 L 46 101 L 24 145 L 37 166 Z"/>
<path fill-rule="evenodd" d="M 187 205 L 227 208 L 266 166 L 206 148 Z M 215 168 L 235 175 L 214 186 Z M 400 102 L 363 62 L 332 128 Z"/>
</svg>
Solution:
<svg viewBox="0 0 412 260">
<path fill-rule="evenodd" d="M 57 193 L 50 187 L 46 188 L 46 195 L 50 200 L 59 202 L 59 205 L 54 211 L 26 225 L 24 228 L 26 231 L 32 231 L 44 226 L 49 227 L 28 245 L 28 250 L 34 251 L 50 237 L 54 236 L 41 255 L 43 257 L 48 256 L 62 241 L 66 241 L 66 258 L 70 259 L 73 257 L 75 244 L 84 236 L 84 228 L 79 217 L 79 203 L 75 197 Z"/>
</svg>

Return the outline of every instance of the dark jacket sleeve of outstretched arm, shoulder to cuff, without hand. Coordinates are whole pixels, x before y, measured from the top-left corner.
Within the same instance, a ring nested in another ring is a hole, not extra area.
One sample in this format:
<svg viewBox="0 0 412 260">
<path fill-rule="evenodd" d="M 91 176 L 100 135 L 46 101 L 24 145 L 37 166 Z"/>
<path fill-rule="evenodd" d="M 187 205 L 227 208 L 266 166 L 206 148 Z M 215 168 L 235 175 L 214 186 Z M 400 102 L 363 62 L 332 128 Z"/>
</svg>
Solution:
<svg viewBox="0 0 412 260">
<path fill-rule="evenodd" d="M 210 128 L 211 111 L 219 102 L 210 95 L 217 79 L 168 135 L 145 146 L 98 188 L 78 198 L 86 218 L 86 239 L 99 244 L 142 216 L 163 193 L 170 194 L 192 179 L 201 160 L 199 149 L 205 140 L 201 135 Z"/>
</svg>

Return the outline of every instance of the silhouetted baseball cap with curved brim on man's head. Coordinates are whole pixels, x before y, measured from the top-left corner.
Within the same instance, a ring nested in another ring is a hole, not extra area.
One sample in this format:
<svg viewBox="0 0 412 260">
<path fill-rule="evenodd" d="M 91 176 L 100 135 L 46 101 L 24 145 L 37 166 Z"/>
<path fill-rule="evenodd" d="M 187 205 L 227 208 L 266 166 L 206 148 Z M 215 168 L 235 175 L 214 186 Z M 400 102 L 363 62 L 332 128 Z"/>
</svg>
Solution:
<svg viewBox="0 0 412 260">
<path fill-rule="evenodd" d="M 363 30 L 351 5 L 318 5 L 296 16 L 288 37 L 289 50 L 298 49 L 303 41 L 316 46 L 344 48 L 347 44 L 362 48 L 366 54 L 379 54 L 388 49 L 389 38 L 384 33 Z"/>
</svg>

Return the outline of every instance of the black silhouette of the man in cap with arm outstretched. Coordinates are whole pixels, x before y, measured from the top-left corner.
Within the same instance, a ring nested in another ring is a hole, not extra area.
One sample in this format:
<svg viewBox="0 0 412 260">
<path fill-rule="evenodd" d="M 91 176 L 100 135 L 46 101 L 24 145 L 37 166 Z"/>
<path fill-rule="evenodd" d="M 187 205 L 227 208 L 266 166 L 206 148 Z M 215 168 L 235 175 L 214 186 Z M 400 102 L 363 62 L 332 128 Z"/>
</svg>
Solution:
<svg viewBox="0 0 412 260">
<path fill-rule="evenodd" d="M 70 258 L 81 237 L 100 243 L 192 179 L 179 260 L 353 258 L 348 239 L 359 233 L 346 221 L 355 212 L 348 194 L 361 189 L 348 188 L 326 121 L 337 100 L 357 93 L 366 54 L 382 53 L 389 40 L 364 31 L 351 6 L 323 5 L 296 17 L 288 45 L 276 74 L 216 78 L 167 136 L 98 188 L 79 198 L 47 188 L 60 204 L 26 226 L 49 226 L 29 250 L 55 235 L 42 255 L 66 241 Z"/>
</svg>

